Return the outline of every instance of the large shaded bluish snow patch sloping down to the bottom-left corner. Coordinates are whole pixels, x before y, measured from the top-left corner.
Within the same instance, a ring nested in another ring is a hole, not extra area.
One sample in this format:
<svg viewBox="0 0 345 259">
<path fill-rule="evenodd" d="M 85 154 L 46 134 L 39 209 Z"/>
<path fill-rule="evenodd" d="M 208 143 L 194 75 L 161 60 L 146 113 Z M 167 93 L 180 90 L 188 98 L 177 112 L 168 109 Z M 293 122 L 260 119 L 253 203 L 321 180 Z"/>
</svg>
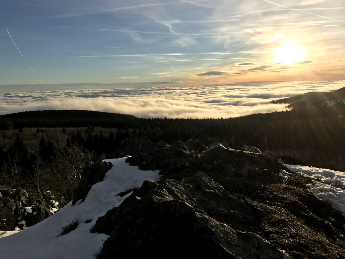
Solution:
<svg viewBox="0 0 345 259">
<path fill-rule="evenodd" d="M 114 166 L 104 180 L 92 186 L 87 198 L 74 206 L 71 202 L 56 214 L 22 231 L 0 231 L 0 258 L 95 258 L 106 234 L 90 233 L 99 216 L 121 204 L 129 195 L 118 193 L 140 187 L 145 180 L 158 181 L 159 170 L 141 171 L 125 162 L 127 157 L 109 159 Z M 79 226 L 68 234 L 57 237 L 68 221 L 78 219 Z M 92 220 L 91 223 L 84 223 Z M 9 235 L 13 234 L 14 235 Z"/>
</svg>

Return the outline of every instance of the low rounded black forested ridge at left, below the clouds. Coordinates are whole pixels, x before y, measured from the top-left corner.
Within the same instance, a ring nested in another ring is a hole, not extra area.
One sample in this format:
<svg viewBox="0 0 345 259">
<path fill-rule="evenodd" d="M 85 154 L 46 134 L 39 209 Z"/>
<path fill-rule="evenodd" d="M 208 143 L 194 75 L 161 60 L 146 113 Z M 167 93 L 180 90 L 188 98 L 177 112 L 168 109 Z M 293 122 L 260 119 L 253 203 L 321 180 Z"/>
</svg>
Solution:
<svg viewBox="0 0 345 259">
<path fill-rule="evenodd" d="M 85 110 L 48 110 L 4 114 L 0 116 L 0 129 L 23 127 L 123 127 L 137 118 L 132 115 Z"/>
</svg>

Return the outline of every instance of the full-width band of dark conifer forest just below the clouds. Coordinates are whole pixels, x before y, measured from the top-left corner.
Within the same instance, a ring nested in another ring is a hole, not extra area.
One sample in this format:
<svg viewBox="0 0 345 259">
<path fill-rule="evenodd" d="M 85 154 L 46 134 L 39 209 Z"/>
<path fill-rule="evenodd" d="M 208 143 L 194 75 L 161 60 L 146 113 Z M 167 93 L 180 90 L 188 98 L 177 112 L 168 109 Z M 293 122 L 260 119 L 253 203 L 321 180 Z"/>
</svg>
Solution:
<svg viewBox="0 0 345 259">
<path fill-rule="evenodd" d="M 262 150 L 313 149 L 344 153 L 344 111 L 323 109 L 252 114 L 237 118 L 183 119 L 136 118 L 93 111 L 60 110 L 23 112 L 0 116 L 0 129 L 39 127 L 117 128 L 122 133 L 175 143 L 189 138 L 203 143 L 225 141 L 230 145 L 254 145 Z M 267 144 L 267 145 L 266 145 Z M 327 157 L 327 155 L 325 155 Z"/>
</svg>

